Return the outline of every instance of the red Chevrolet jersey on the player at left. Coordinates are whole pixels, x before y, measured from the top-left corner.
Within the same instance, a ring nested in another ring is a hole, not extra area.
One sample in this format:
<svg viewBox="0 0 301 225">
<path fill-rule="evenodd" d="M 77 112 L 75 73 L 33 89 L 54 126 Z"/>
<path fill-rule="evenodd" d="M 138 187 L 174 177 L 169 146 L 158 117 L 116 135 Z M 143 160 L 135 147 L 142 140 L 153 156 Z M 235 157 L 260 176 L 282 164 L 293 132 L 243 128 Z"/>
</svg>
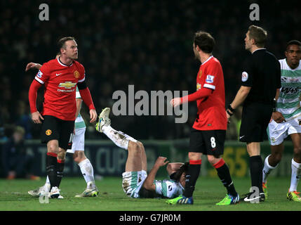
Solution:
<svg viewBox="0 0 301 225">
<path fill-rule="evenodd" d="M 75 120 L 76 84 L 85 80 L 85 69 L 77 61 L 65 65 L 59 58 L 44 63 L 34 77 L 45 85 L 42 115 Z"/>
</svg>

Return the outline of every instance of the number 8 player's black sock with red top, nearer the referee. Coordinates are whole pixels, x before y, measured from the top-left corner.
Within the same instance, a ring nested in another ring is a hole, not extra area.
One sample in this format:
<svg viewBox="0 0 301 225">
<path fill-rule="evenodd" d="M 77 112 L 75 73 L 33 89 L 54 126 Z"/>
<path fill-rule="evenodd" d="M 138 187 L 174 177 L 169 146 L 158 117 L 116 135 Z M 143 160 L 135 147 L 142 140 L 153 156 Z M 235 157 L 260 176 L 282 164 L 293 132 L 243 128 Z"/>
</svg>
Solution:
<svg viewBox="0 0 301 225">
<path fill-rule="evenodd" d="M 225 186 L 225 188 L 227 188 L 227 193 L 232 196 L 236 196 L 237 193 L 235 191 L 234 184 L 231 179 L 229 167 L 227 166 L 225 161 L 221 159 L 220 161 L 215 163 L 213 167 L 215 167 L 215 169 L 217 170 L 218 177 L 220 177 L 220 181 L 222 181 L 222 184 Z"/>
</svg>

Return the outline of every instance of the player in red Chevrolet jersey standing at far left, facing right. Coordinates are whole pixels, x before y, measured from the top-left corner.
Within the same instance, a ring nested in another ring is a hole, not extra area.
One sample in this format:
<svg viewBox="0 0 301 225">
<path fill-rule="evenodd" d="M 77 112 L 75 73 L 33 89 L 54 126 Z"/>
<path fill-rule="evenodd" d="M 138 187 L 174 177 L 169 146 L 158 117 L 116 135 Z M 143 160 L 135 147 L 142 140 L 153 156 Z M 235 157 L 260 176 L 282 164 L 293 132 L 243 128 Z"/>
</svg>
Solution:
<svg viewBox="0 0 301 225">
<path fill-rule="evenodd" d="M 46 172 L 50 181 L 51 198 L 60 196 L 60 181 L 65 165 L 66 150 L 72 146 L 76 115 L 76 86 L 90 110 L 90 122 L 97 113 L 85 82 L 85 70 L 77 62 L 78 48 L 74 37 L 58 41 L 60 56 L 44 63 L 29 87 L 29 105 L 32 121 L 41 124 L 41 142 L 47 144 Z M 44 103 L 41 113 L 36 109 L 38 89 L 44 85 Z M 45 193 L 46 194 L 46 193 Z"/>
</svg>

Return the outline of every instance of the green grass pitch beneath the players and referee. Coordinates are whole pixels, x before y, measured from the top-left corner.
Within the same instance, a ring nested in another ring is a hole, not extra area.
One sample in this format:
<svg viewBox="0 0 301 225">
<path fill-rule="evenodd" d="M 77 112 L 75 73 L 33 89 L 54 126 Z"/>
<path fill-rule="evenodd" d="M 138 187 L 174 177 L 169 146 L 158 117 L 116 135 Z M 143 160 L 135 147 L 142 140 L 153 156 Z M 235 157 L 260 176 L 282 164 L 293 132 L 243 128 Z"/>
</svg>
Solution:
<svg viewBox="0 0 301 225">
<path fill-rule="evenodd" d="M 50 199 L 48 204 L 39 203 L 27 191 L 44 184 L 41 181 L 0 179 L 0 210 L 13 211 L 296 211 L 301 203 L 286 199 L 290 178 L 271 177 L 268 181 L 269 196 L 265 203 L 216 206 L 225 197 L 225 188 L 218 178 L 199 177 L 194 191 L 194 205 L 167 205 L 165 199 L 128 198 L 121 188 L 121 177 L 105 177 L 96 181 L 100 194 L 96 198 L 74 198 L 86 187 L 83 178 L 62 179 L 60 186 L 64 199 Z M 239 194 L 248 192 L 250 178 L 235 178 L 234 185 Z"/>
</svg>

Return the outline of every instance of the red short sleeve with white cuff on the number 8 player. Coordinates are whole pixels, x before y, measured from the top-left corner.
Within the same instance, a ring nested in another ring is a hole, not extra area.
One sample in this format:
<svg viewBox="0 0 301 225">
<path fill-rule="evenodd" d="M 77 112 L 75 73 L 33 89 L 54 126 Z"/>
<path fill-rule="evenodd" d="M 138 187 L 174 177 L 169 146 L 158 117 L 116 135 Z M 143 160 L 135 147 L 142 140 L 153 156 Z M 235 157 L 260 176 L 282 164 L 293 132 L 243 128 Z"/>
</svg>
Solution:
<svg viewBox="0 0 301 225">
<path fill-rule="evenodd" d="M 205 77 L 203 87 L 215 90 L 219 79 L 222 77 L 222 66 L 218 62 L 212 63 L 210 66 L 208 66 L 206 74 L 207 75 Z"/>
</svg>

